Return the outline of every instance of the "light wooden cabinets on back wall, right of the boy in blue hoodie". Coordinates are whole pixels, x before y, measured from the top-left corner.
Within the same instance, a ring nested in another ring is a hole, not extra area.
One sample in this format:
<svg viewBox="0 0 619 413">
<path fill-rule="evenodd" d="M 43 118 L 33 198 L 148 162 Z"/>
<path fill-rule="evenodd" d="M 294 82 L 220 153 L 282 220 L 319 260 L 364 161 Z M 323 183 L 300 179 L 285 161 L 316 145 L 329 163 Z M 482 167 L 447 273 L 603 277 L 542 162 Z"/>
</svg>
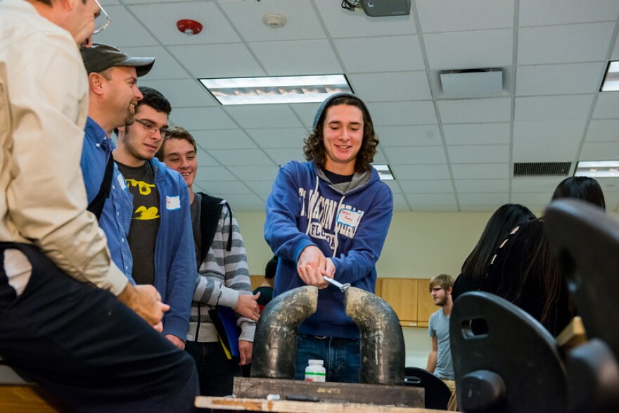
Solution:
<svg viewBox="0 0 619 413">
<path fill-rule="evenodd" d="M 376 295 L 393 307 L 403 327 L 427 327 L 430 314 L 438 310 L 429 283 L 429 279 L 379 278 Z"/>
</svg>

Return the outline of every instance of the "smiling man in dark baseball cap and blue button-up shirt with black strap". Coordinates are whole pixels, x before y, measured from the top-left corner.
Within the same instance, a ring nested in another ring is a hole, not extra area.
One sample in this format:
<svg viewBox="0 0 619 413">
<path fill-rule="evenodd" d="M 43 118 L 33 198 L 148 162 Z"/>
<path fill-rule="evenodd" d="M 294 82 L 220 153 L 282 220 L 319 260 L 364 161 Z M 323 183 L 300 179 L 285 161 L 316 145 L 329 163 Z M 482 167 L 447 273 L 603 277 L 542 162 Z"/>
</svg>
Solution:
<svg viewBox="0 0 619 413">
<path fill-rule="evenodd" d="M 96 215 L 108 237 L 112 260 L 135 284 L 127 243 L 133 196 L 114 163 L 115 144 L 110 134 L 117 127 L 135 122 L 135 107 L 142 99 L 137 78 L 153 68 L 155 58 L 129 57 L 107 44 L 93 44 L 80 51 L 89 83 L 88 118 L 80 162 L 88 210 Z"/>
</svg>

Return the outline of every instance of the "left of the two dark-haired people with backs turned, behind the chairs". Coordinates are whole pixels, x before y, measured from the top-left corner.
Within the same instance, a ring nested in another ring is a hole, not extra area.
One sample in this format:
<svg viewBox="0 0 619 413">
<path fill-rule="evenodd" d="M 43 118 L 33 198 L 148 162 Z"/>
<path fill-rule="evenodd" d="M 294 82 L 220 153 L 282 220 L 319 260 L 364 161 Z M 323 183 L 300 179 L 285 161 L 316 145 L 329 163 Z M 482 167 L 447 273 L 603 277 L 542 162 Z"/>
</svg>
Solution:
<svg viewBox="0 0 619 413">
<path fill-rule="evenodd" d="M 486 276 L 490 258 L 499 248 L 499 244 L 506 239 L 512 229 L 530 220 L 535 220 L 535 214 L 529 208 L 517 203 L 506 203 L 494 211 L 477 245 L 464 260 L 452 291 L 454 302 L 462 293 L 479 290 Z"/>
</svg>

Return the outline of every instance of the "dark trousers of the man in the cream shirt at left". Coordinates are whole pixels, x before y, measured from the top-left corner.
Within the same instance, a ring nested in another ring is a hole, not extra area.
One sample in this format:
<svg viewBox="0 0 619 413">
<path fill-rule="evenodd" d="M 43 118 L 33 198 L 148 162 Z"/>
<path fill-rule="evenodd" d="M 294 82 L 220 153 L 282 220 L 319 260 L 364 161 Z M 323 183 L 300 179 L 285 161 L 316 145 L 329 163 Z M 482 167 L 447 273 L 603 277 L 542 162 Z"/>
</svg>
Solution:
<svg viewBox="0 0 619 413">
<path fill-rule="evenodd" d="M 32 265 L 17 298 L 4 270 L 10 248 Z M 191 357 L 24 244 L 0 243 L 0 356 L 78 412 L 191 412 L 198 393 Z"/>
</svg>

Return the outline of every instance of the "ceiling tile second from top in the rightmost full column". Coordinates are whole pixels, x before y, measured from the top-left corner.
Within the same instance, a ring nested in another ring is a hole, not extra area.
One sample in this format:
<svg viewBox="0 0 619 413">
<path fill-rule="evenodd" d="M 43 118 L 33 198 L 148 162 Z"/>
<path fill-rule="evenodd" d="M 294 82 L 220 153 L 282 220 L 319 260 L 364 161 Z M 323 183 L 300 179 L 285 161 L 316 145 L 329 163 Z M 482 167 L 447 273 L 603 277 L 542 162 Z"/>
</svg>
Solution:
<svg viewBox="0 0 619 413">
<path fill-rule="evenodd" d="M 521 27 L 518 65 L 605 61 L 615 23 Z"/>
</svg>

